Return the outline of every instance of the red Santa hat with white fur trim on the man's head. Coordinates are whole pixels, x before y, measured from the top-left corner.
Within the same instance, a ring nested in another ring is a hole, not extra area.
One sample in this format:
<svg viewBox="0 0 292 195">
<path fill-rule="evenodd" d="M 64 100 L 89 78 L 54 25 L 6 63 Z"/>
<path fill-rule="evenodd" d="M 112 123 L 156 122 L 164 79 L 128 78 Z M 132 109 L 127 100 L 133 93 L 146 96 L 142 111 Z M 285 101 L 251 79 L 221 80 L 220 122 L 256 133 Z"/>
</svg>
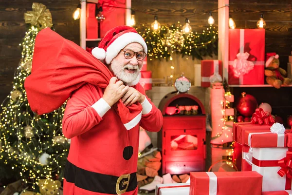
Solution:
<svg viewBox="0 0 292 195">
<path fill-rule="evenodd" d="M 121 49 L 133 42 L 140 43 L 143 51 L 147 54 L 146 42 L 134 28 L 126 25 L 117 26 L 106 33 L 98 47 L 92 49 L 91 54 L 95 58 L 105 60 L 107 64 L 110 64 Z"/>
</svg>

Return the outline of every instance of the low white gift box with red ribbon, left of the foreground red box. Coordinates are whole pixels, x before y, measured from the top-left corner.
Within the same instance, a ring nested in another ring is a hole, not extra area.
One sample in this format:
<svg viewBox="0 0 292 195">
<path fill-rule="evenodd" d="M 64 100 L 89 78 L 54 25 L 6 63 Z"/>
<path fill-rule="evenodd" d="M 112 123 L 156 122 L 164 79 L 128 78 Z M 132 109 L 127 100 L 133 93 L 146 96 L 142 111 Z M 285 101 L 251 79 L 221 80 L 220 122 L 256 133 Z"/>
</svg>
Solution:
<svg viewBox="0 0 292 195">
<path fill-rule="evenodd" d="M 155 195 L 189 195 L 189 183 L 170 183 L 156 185 Z"/>
</svg>

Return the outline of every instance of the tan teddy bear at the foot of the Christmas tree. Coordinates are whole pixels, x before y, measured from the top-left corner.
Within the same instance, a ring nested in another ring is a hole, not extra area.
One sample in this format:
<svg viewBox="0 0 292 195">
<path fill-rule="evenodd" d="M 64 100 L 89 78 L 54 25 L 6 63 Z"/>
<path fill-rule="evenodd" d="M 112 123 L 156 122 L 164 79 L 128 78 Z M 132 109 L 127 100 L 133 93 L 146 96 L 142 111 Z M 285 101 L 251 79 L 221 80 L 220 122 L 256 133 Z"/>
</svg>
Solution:
<svg viewBox="0 0 292 195">
<path fill-rule="evenodd" d="M 57 195 L 61 182 L 53 179 L 40 179 L 38 181 L 39 192 L 41 195 Z"/>
</svg>

